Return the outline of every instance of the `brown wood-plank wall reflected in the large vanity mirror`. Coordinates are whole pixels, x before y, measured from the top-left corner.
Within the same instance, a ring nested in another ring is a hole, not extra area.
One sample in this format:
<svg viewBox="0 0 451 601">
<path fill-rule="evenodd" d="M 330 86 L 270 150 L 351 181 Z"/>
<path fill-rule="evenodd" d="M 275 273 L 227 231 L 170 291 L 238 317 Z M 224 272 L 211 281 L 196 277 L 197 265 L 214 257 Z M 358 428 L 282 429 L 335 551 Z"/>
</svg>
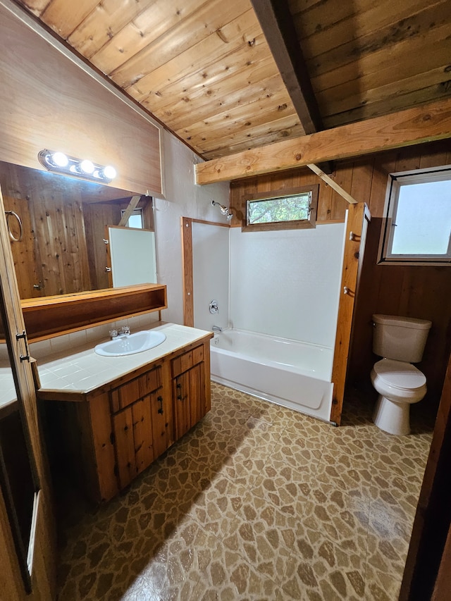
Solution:
<svg viewBox="0 0 451 601">
<path fill-rule="evenodd" d="M 132 190 L 3 162 L 0 185 L 20 298 L 111 286 L 105 227 L 121 221 Z M 143 227 L 154 230 L 152 198 L 142 197 L 138 207 Z"/>
</svg>

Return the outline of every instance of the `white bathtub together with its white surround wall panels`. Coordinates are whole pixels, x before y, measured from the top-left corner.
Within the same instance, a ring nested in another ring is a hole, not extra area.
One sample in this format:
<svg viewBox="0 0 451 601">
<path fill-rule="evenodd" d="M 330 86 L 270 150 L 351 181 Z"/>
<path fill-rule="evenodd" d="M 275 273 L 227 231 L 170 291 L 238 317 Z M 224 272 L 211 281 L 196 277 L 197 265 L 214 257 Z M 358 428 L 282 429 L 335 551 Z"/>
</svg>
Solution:
<svg viewBox="0 0 451 601">
<path fill-rule="evenodd" d="M 211 378 L 328 421 L 345 224 L 229 231 L 228 240 L 205 232 L 193 240 L 195 327 L 226 326 L 224 312 L 212 319 L 208 304 L 211 283 L 230 280 L 228 328 L 212 341 Z M 228 273 L 226 261 L 218 270 L 218 261 L 205 260 L 218 252 L 230 255 Z M 224 306 L 223 290 L 221 297 Z"/>
</svg>

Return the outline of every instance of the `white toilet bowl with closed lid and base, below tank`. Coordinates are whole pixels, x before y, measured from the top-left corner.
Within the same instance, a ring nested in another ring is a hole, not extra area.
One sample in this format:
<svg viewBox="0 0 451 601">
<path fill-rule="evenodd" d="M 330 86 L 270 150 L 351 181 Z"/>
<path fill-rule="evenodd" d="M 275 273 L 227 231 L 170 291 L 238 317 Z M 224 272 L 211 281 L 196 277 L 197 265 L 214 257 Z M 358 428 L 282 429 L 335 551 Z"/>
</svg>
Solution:
<svg viewBox="0 0 451 601">
<path fill-rule="evenodd" d="M 381 359 L 371 370 L 371 383 L 379 393 L 373 422 L 385 432 L 410 433 L 410 405 L 426 395 L 426 376 L 405 361 Z"/>
</svg>

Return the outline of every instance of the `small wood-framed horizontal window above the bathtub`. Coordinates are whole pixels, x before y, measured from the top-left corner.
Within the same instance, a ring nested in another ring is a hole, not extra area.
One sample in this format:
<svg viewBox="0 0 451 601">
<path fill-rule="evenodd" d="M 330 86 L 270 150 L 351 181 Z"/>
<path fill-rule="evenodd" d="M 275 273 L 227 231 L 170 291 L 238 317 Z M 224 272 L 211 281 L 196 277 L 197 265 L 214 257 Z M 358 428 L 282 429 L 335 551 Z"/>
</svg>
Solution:
<svg viewBox="0 0 451 601">
<path fill-rule="evenodd" d="M 286 230 L 314 228 L 319 185 L 271 190 L 245 197 L 243 230 Z"/>
</svg>

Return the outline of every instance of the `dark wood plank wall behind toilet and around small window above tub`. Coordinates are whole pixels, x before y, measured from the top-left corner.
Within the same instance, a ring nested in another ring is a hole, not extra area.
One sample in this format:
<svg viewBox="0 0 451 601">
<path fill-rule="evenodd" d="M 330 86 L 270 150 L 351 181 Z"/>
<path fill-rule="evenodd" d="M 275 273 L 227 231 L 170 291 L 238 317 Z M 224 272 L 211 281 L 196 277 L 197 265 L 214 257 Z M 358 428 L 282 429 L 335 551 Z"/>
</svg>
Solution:
<svg viewBox="0 0 451 601">
<path fill-rule="evenodd" d="M 337 163 L 336 182 L 371 211 L 362 280 L 354 318 L 348 383 L 369 385 L 371 367 L 377 357 L 371 350 L 373 313 L 431 319 L 424 359 L 419 368 L 428 379 L 428 395 L 435 411 L 443 387 L 451 352 L 451 267 L 376 265 L 388 174 L 451 163 L 449 142 L 416 147 Z M 243 194 L 319 183 L 318 221 L 344 218 L 347 203 L 309 170 L 264 175 L 232 182 L 230 207 L 237 215 L 232 225 L 240 226 L 244 214 Z M 369 385 L 371 390 L 371 385 Z"/>
</svg>

